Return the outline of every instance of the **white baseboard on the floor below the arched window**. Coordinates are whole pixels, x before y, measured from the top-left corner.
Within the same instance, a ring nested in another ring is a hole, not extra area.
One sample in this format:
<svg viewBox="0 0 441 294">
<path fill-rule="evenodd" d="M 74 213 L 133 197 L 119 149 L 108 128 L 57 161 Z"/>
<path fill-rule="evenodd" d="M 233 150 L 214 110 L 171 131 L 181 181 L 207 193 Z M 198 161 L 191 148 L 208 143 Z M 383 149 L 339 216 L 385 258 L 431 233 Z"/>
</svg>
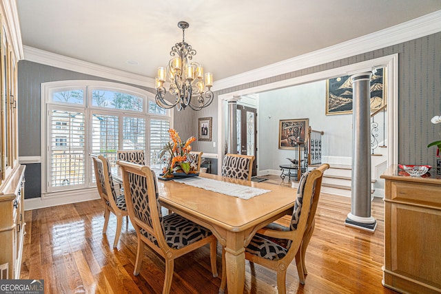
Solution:
<svg viewBox="0 0 441 294">
<path fill-rule="evenodd" d="M 99 194 L 98 191 L 96 191 L 96 188 L 81 189 L 74 193 L 68 193 L 67 195 L 48 196 L 48 194 L 46 194 L 39 198 L 25 199 L 25 211 L 96 199 L 99 199 Z"/>
</svg>

